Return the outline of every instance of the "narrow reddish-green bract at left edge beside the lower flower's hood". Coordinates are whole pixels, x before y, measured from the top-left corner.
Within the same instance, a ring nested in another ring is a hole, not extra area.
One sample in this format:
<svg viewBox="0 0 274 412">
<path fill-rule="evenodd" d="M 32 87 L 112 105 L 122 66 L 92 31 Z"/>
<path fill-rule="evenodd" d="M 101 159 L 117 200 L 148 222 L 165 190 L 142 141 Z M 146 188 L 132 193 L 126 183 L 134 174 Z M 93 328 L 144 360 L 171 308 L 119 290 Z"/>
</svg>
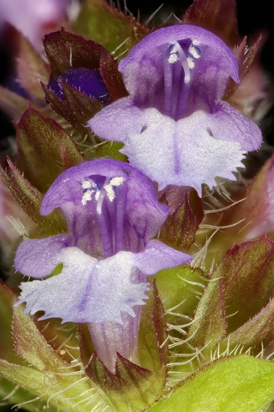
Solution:
<svg viewBox="0 0 274 412">
<path fill-rule="evenodd" d="M 16 169 L 10 159 L 8 159 L 8 165 L 10 174 L 6 174 L 0 167 L 1 176 L 25 213 L 48 235 L 66 231 L 65 220 L 60 211 L 54 210 L 48 216 L 41 216 L 40 208 L 43 195 L 25 179 L 25 176 Z"/>
</svg>

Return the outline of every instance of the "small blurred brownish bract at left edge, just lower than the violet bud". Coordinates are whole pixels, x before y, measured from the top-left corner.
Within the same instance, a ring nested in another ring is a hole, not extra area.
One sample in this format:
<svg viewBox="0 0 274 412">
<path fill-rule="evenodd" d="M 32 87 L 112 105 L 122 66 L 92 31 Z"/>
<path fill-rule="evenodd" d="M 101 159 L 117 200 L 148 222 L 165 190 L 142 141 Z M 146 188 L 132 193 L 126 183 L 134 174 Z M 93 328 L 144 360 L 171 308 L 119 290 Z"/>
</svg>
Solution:
<svg viewBox="0 0 274 412">
<path fill-rule="evenodd" d="M 16 120 L 27 109 L 27 100 L 0 86 L 0 108 Z"/>
</svg>

